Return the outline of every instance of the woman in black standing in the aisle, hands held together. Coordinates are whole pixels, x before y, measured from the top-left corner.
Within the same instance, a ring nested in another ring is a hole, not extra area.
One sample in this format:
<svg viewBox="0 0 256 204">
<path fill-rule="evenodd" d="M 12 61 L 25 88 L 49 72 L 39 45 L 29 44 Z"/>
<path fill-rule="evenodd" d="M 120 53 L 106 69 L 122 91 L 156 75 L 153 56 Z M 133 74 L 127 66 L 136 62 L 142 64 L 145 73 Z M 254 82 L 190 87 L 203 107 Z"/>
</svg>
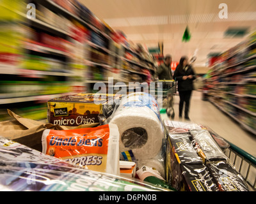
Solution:
<svg viewBox="0 0 256 204">
<path fill-rule="evenodd" d="M 193 91 L 193 80 L 195 80 L 195 72 L 191 65 L 188 64 L 188 57 L 180 58 L 179 65 L 175 69 L 173 78 L 178 82 L 178 91 L 180 96 L 179 117 L 182 118 L 182 110 L 185 102 L 185 119 L 190 120 L 189 105 Z"/>
</svg>

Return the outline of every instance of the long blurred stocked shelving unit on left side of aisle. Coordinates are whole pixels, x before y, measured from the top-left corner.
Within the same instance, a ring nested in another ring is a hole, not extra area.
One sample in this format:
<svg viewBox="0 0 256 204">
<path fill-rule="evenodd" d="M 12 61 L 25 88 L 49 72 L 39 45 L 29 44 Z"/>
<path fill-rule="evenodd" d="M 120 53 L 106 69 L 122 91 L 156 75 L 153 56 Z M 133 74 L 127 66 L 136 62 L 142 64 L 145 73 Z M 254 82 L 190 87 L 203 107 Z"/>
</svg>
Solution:
<svg viewBox="0 0 256 204">
<path fill-rule="evenodd" d="M 32 117 L 44 120 L 36 114 L 38 105 L 45 105 L 46 112 L 45 101 L 48 99 L 76 92 L 95 92 L 93 85 L 97 82 L 108 83 L 108 77 L 113 77 L 115 83 L 123 82 L 123 78 L 129 82 L 152 80 L 156 69 L 152 57 L 145 50 L 137 52 L 137 48 L 124 36 L 100 22 L 82 4 L 63 8 L 54 0 L 35 0 L 29 3 L 36 5 L 36 18 L 30 19 L 26 17 L 25 9 L 28 2 L 15 3 L 14 6 L 9 3 L 1 5 L 9 14 L 8 19 L 0 22 L 1 30 L 3 33 L 9 31 L 10 39 L 15 41 L 16 46 L 15 53 L 10 52 L 10 55 L 17 55 L 15 62 L 0 65 L 1 115 L 10 106 L 14 109 L 20 107 L 20 110 L 35 106 Z M 10 24 L 15 27 L 13 31 Z M 7 47 L 1 47 L 0 52 L 5 53 Z M 17 91 L 12 82 L 22 91 Z M 63 83 L 69 89 L 65 86 L 65 89 L 60 87 L 60 92 L 52 92 L 46 82 L 56 82 L 54 90 Z M 5 91 L 5 87 L 10 92 Z M 29 89 L 33 91 L 29 92 Z M 39 109 L 40 115 L 44 115 Z M 33 112 L 33 107 L 30 112 Z"/>
</svg>

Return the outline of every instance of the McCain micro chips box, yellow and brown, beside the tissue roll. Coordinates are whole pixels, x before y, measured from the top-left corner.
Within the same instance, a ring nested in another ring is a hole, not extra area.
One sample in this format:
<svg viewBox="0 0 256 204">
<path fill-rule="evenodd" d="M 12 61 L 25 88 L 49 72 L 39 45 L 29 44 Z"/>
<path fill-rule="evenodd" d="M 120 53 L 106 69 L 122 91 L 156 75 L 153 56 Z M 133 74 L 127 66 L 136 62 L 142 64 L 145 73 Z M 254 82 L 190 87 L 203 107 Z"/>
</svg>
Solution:
<svg viewBox="0 0 256 204">
<path fill-rule="evenodd" d="M 108 94 L 75 94 L 48 101 L 47 119 L 60 126 L 97 124 L 113 112 L 115 101 Z"/>
</svg>

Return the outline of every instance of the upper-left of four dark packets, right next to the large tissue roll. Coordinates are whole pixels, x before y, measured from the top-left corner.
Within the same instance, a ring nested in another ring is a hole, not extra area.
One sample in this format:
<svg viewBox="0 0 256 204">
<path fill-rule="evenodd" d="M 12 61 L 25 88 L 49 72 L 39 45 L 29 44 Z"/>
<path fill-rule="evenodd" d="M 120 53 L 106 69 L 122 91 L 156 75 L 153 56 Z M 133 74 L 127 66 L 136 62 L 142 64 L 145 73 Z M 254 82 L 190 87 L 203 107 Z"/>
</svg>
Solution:
<svg viewBox="0 0 256 204">
<path fill-rule="evenodd" d="M 179 133 L 170 134 L 169 137 L 175 152 L 175 157 L 179 163 L 203 163 L 201 157 L 198 156 L 196 149 L 189 140 L 191 135 L 188 133 Z"/>
</svg>

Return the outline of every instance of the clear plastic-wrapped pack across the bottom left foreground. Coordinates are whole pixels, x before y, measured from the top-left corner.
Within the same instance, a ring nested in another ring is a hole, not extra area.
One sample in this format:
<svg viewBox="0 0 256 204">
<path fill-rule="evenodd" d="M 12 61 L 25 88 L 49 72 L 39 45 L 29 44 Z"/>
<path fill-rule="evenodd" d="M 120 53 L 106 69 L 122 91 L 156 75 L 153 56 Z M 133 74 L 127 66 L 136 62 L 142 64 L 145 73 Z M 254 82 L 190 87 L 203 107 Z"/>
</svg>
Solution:
<svg viewBox="0 0 256 204">
<path fill-rule="evenodd" d="M 0 191 L 170 191 L 148 182 L 84 170 L 0 136 Z"/>
</svg>

